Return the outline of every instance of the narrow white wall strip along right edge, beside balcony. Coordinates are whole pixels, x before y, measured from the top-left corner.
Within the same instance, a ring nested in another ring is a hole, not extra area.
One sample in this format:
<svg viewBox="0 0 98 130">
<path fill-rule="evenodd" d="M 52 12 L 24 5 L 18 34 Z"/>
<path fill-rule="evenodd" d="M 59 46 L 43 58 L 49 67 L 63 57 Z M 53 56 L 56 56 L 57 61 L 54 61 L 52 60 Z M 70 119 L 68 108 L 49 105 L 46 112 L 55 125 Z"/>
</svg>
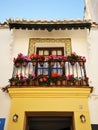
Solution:
<svg viewBox="0 0 98 130">
<path fill-rule="evenodd" d="M 89 99 L 91 123 L 98 124 L 98 29 L 92 28 L 89 35 L 89 76 L 94 87 Z"/>
</svg>

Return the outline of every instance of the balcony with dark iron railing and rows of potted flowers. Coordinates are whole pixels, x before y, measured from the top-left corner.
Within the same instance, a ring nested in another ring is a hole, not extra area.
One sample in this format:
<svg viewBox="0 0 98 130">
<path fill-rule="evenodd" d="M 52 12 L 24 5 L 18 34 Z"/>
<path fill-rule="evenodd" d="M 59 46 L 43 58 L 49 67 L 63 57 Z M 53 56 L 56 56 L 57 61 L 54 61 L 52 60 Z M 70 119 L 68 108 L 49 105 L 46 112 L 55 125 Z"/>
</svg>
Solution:
<svg viewBox="0 0 98 130">
<path fill-rule="evenodd" d="M 19 57 L 18 57 L 19 58 Z M 77 55 L 14 63 L 10 87 L 88 87 L 85 58 Z"/>
</svg>

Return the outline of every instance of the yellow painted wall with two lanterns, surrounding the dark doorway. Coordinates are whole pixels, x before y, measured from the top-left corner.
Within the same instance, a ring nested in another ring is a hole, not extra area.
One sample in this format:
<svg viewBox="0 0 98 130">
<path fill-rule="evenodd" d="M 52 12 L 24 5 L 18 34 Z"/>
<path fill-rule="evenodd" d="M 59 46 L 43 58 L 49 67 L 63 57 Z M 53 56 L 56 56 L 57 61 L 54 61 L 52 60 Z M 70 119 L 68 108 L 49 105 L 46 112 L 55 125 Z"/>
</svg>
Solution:
<svg viewBox="0 0 98 130">
<path fill-rule="evenodd" d="M 73 112 L 75 130 L 91 130 L 89 93 L 90 88 L 10 88 L 12 105 L 8 130 L 25 130 L 25 112 L 34 111 Z M 17 122 L 12 120 L 15 113 L 19 116 Z M 85 123 L 80 120 L 81 114 L 86 117 Z"/>
</svg>

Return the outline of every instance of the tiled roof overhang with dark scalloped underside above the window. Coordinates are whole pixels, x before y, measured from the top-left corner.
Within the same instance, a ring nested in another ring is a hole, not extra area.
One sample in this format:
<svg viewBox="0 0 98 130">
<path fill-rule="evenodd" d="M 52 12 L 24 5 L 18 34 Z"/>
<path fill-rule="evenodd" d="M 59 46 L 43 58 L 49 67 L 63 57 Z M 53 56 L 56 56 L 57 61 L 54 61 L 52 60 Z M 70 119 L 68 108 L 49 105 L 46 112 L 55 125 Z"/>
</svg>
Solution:
<svg viewBox="0 0 98 130">
<path fill-rule="evenodd" d="M 52 30 L 71 30 L 71 29 L 90 29 L 91 22 L 87 21 L 26 21 L 26 20 L 8 20 L 10 29 L 28 29 L 28 30 L 48 30 L 49 32 Z"/>
</svg>

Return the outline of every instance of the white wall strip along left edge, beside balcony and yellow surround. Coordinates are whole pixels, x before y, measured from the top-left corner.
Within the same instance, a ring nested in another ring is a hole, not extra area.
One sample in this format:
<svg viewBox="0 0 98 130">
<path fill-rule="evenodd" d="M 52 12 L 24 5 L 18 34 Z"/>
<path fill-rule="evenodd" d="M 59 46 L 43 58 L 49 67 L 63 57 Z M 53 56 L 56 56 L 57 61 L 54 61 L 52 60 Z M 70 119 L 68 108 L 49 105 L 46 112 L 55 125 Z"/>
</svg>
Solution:
<svg viewBox="0 0 98 130">
<path fill-rule="evenodd" d="M 8 79 L 12 75 L 11 55 L 10 55 L 11 31 L 0 29 L 0 88 L 8 84 Z M 10 110 L 10 97 L 0 90 L 0 118 L 6 118 L 7 127 Z"/>
</svg>

